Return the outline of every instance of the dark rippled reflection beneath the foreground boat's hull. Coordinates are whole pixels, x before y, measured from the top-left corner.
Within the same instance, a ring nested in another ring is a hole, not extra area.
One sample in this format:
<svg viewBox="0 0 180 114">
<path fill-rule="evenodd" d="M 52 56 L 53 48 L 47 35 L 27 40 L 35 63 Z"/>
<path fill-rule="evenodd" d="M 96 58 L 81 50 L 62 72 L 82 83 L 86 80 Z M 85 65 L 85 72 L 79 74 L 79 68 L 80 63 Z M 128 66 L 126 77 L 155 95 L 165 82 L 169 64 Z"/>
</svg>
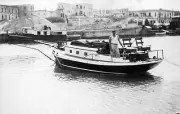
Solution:
<svg viewBox="0 0 180 114">
<path fill-rule="evenodd" d="M 128 85 L 128 86 L 138 86 L 143 84 L 156 84 L 160 83 L 161 78 L 153 76 L 150 73 L 141 74 L 102 74 L 87 71 L 79 71 L 75 69 L 60 68 L 55 65 L 54 72 L 55 76 L 64 80 L 76 80 L 79 82 L 100 82 L 106 85 L 113 85 L 114 87 Z"/>
</svg>

